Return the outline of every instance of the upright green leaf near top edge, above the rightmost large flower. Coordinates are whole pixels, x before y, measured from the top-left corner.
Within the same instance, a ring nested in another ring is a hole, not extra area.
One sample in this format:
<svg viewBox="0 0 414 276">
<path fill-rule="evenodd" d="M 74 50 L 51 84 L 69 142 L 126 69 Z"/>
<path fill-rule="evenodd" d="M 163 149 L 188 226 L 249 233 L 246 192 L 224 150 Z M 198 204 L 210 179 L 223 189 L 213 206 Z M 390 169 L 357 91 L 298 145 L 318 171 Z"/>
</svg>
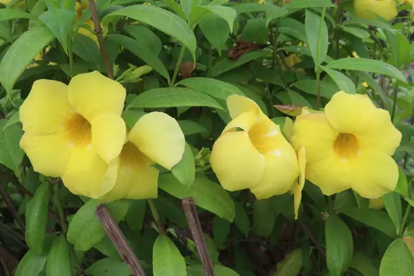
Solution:
<svg viewBox="0 0 414 276">
<path fill-rule="evenodd" d="M 306 10 L 305 30 L 313 61 L 318 66 L 325 60 L 328 52 L 328 27 L 326 27 L 325 20 L 322 17 Z"/>
</svg>

